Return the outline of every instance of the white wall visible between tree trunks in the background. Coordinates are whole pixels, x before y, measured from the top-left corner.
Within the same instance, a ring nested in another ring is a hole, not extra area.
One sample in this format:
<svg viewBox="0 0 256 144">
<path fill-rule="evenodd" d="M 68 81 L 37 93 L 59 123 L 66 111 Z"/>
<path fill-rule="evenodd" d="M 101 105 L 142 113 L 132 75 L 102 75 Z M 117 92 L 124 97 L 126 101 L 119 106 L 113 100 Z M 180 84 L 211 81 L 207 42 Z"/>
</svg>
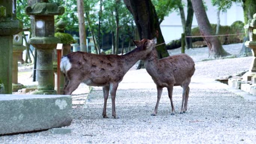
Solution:
<svg viewBox="0 0 256 144">
<path fill-rule="evenodd" d="M 182 0 L 186 3 L 187 0 Z M 207 5 L 207 16 L 211 24 L 217 23 L 217 7 L 212 6 L 211 0 L 204 0 Z M 184 6 L 185 17 L 187 16 L 187 7 Z M 243 7 L 238 4 L 233 4 L 233 6 L 227 10 L 225 13 L 220 13 L 220 25 L 231 25 L 234 21 L 244 21 Z M 192 28 L 197 27 L 197 21 L 195 14 L 193 16 Z M 165 42 L 174 40 L 181 37 L 182 22 L 180 15 L 177 12 L 170 13 L 166 16 L 164 21 L 162 21 L 161 31 L 164 36 Z"/>
</svg>

